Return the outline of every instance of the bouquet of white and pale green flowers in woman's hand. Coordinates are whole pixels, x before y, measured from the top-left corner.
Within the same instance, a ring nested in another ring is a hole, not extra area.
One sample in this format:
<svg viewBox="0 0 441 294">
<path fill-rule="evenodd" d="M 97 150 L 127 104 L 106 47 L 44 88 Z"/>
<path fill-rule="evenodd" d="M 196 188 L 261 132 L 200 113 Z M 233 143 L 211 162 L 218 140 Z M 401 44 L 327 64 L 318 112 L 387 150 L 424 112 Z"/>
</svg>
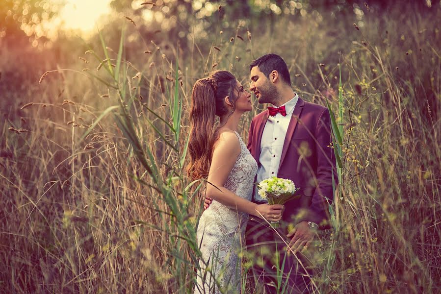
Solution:
<svg viewBox="0 0 441 294">
<path fill-rule="evenodd" d="M 278 177 L 271 177 L 257 184 L 259 196 L 268 200 L 268 204 L 285 204 L 288 200 L 297 198 L 295 193 L 299 188 L 293 181 Z M 279 222 L 273 222 L 273 227 L 279 227 Z"/>
</svg>

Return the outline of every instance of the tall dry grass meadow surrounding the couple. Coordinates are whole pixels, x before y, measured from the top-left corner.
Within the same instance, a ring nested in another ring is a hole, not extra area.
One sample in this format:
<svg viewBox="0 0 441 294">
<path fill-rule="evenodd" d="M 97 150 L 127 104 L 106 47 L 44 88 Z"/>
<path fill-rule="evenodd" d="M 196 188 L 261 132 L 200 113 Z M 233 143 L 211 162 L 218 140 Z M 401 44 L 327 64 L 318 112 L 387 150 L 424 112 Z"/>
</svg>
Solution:
<svg viewBox="0 0 441 294">
<path fill-rule="evenodd" d="M 314 293 L 440 293 L 440 3 L 212 1 L 202 18 L 159 2 L 163 24 L 125 10 L 85 41 L 0 37 L 0 293 L 193 293 L 191 89 L 216 69 L 247 88 L 269 52 L 336 117 L 333 228 L 304 253 Z"/>
</svg>

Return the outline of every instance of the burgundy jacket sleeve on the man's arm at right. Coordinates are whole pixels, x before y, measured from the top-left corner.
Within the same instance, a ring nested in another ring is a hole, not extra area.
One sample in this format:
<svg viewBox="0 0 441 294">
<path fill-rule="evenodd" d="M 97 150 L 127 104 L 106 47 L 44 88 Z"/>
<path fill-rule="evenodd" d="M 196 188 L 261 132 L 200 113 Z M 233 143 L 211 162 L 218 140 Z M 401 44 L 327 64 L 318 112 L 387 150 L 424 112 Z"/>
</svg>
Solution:
<svg viewBox="0 0 441 294">
<path fill-rule="evenodd" d="M 332 180 L 334 173 L 334 181 L 337 186 L 337 167 L 336 157 L 332 146 L 331 137 L 331 118 L 329 110 L 325 109 L 320 115 L 316 129 L 316 152 L 317 152 L 317 187 L 312 195 L 311 206 L 309 207 L 308 216 L 304 221 L 313 221 L 321 228 L 330 228 L 329 205 L 334 199 L 332 189 Z"/>
</svg>

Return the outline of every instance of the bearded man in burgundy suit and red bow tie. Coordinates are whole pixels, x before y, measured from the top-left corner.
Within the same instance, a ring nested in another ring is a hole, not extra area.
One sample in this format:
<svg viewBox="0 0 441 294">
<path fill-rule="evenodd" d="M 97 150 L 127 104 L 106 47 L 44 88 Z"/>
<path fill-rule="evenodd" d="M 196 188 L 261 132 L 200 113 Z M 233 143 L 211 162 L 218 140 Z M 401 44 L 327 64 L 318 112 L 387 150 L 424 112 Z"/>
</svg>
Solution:
<svg viewBox="0 0 441 294">
<path fill-rule="evenodd" d="M 248 221 L 245 235 L 247 251 L 254 256 L 251 273 L 256 293 L 275 293 L 285 282 L 286 293 L 308 293 L 312 273 L 305 269 L 306 261 L 298 252 L 311 244 L 317 229 L 330 227 L 333 172 L 337 181 L 329 111 L 292 91 L 286 63 L 277 54 L 256 59 L 250 65 L 250 78 L 250 90 L 259 103 L 276 106 L 268 107 L 251 122 L 248 149 L 258 163 L 256 182 L 276 176 L 290 179 L 300 188 L 300 197 L 285 204 L 277 232 L 261 219 Z M 267 202 L 255 190 L 253 201 Z M 206 204 L 210 202 L 206 199 Z M 295 254 L 290 254 L 289 248 Z M 282 265 L 283 278 L 278 285 L 276 267 L 282 270 Z"/>
</svg>

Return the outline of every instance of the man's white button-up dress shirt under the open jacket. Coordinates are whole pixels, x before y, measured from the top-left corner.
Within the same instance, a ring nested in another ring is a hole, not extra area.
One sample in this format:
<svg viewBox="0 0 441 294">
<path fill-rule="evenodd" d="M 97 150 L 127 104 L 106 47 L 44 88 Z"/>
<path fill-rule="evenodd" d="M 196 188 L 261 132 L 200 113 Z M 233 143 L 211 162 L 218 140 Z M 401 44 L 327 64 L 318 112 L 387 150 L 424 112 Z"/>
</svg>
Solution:
<svg viewBox="0 0 441 294">
<path fill-rule="evenodd" d="M 268 121 L 263 129 L 262 139 L 260 140 L 260 165 L 257 171 L 258 183 L 272 176 L 277 176 L 286 131 L 288 130 L 288 125 L 298 100 L 299 96 L 296 94 L 294 98 L 281 105 L 285 105 L 286 116 L 277 113 L 273 117 L 268 117 Z M 257 201 L 267 201 L 259 196 L 258 189 L 255 189 L 254 198 Z"/>
</svg>

